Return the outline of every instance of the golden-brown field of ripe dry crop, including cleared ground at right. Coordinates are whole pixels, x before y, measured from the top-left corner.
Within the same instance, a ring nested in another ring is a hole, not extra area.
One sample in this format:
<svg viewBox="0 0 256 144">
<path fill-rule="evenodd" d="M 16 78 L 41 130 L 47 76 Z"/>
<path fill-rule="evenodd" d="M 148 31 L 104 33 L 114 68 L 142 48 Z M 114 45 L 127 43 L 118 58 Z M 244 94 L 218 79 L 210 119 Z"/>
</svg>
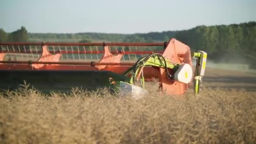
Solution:
<svg viewBox="0 0 256 144">
<path fill-rule="evenodd" d="M 106 90 L 51 95 L 27 88 L 6 91 L 0 93 L 0 141 L 255 144 L 255 76 L 208 69 L 199 95 L 189 89 L 182 97 L 169 96 L 147 83 L 150 95 L 138 100 Z"/>
</svg>

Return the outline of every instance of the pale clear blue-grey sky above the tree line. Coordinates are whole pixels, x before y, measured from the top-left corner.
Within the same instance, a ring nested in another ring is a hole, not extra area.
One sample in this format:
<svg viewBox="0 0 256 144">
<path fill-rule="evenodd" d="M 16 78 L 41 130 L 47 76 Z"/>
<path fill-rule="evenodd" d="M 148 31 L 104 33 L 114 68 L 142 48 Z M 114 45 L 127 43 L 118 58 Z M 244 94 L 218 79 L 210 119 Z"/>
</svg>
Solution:
<svg viewBox="0 0 256 144">
<path fill-rule="evenodd" d="M 0 28 L 147 33 L 256 21 L 256 0 L 0 0 Z"/>
</svg>

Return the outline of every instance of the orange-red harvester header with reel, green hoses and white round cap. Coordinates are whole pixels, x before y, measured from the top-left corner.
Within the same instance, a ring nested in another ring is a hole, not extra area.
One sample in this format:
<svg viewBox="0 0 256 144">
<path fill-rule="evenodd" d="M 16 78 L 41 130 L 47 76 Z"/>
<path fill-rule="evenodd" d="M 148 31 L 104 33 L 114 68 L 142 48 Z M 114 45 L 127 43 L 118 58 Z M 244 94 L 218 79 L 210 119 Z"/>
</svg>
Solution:
<svg viewBox="0 0 256 144">
<path fill-rule="evenodd" d="M 40 91 L 108 87 L 139 93 L 145 81 L 157 78 L 165 93 L 180 96 L 194 82 L 197 94 L 206 57 L 174 38 L 165 43 L 0 43 L 0 88 L 14 90 L 26 81 Z"/>
</svg>

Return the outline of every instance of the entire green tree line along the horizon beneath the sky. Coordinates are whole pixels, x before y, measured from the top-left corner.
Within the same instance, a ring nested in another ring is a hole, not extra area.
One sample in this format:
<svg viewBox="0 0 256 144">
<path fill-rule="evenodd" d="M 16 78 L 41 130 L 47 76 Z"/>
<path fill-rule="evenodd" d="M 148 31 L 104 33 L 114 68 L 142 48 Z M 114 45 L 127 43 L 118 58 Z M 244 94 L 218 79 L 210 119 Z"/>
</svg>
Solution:
<svg viewBox="0 0 256 144">
<path fill-rule="evenodd" d="M 0 42 L 165 42 L 171 37 L 188 45 L 192 51 L 203 50 L 213 61 L 250 63 L 256 61 L 256 22 L 241 24 L 197 26 L 181 31 L 149 32 L 136 34 L 107 33 L 28 33 L 25 27 L 6 33 L 0 29 Z M 254 66 L 256 67 L 256 66 Z"/>
</svg>

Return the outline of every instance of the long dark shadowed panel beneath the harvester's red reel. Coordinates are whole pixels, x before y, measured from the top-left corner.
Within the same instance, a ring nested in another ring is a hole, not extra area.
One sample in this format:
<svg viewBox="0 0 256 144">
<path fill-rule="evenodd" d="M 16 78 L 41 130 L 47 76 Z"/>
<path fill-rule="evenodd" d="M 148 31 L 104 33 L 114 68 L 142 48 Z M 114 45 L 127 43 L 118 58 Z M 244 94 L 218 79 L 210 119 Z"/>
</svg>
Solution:
<svg viewBox="0 0 256 144">
<path fill-rule="evenodd" d="M 125 81 L 125 77 L 109 71 L 0 70 L 2 90 L 22 88 L 24 82 L 43 92 L 68 92 L 71 88 L 96 90 L 109 85 L 109 77 Z"/>
</svg>

